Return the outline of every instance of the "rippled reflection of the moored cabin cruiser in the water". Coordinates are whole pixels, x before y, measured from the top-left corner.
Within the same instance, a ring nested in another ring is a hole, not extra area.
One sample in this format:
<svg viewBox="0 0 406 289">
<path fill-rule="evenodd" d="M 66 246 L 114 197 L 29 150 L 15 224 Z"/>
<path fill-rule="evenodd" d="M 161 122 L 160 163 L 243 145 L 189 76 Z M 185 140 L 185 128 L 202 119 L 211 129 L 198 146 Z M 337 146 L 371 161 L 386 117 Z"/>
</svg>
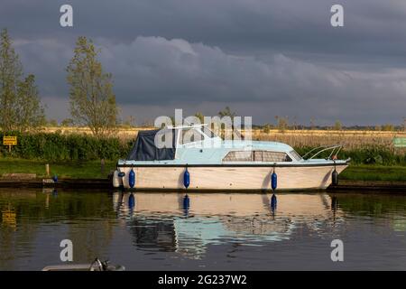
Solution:
<svg viewBox="0 0 406 289">
<path fill-rule="evenodd" d="M 113 194 L 117 217 L 145 250 L 200 258 L 208 245 L 261 246 L 288 240 L 305 225 L 335 229 L 342 212 L 328 194 L 152 193 Z"/>
</svg>

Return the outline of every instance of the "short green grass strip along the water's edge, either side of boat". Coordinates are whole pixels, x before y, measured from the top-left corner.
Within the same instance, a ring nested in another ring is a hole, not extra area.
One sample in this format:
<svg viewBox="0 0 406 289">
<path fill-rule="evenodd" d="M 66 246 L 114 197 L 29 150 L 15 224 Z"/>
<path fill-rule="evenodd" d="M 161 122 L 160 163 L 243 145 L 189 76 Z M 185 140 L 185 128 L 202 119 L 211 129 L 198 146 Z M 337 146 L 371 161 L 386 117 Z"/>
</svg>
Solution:
<svg viewBox="0 0 406 289">
<path fill-rule="evenodd" d="M 4 173 L 36 173 L 46 177 L 44 161 L 15 158 L 0 159 L 0 175 Z M 108 172 L 115 170 L 115 161 L 106 161 L 105 173 L 101 172 L 99 161 L 50 163 L 51 175 L 60 178 L 98 179 L 106 178 Z M 406 167 L 399 165 L 351 164 L 340 174 L 341 180 L 351 181 L 392 181 L 406 182 Z"/>
</svg>

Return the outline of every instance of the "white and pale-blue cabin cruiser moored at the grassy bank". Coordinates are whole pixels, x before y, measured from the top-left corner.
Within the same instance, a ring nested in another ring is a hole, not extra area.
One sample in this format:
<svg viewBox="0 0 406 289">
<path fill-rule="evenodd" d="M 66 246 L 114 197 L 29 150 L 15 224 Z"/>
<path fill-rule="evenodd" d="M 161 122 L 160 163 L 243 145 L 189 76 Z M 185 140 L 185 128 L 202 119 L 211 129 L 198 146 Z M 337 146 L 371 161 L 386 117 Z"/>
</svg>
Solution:
<svg viewBox="0 0 406 289">
<path fill-rule="evenodd" d="M 194 135 L 184 138 L 185 135 Z M 157 139 L 171 138 L 157 147 Z M 140 190 L 306 190 L 337 182 L 349 159 L 338 160 L 342 145 L 319 147 L 305 157 L 288 144 L 224 141 L 207 126 L 169 126 L 140 131 L 125 160 L 119 160 L 113 186 Z M 316 158 L 329 152 L 327 158 Z"/>
</svg>

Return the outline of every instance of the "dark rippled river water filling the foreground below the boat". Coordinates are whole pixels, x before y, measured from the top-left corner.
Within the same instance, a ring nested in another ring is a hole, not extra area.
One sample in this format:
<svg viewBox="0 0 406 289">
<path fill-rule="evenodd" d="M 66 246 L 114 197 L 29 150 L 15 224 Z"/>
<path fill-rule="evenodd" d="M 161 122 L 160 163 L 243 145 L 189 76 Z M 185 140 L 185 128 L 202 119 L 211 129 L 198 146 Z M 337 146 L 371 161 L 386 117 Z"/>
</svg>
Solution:
<svg viewBox="0 0 406 289">
<path fill-rule="evenodd" d="M 0 269 L 406 269 L 406 195 L 0 190 Z M 188 206 L 189 205 L 189 206 Z M 344 261 L 330 258 L 333 239 Z"/>
</svg>

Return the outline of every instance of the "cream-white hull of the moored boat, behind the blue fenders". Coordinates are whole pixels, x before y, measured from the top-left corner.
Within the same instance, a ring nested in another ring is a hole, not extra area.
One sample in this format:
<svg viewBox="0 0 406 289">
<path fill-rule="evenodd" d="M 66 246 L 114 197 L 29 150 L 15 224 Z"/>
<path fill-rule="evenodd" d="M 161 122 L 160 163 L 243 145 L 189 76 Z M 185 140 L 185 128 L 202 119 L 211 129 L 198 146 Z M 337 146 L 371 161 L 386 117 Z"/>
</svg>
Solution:
<svg viewBox="0 0 406 289">
<path fill-rule="evenodd" d="M 337 165 L 337 172 L 345 170 L 346 164 Z M 123 185 L 129 186 L 129 172 L 132 167 L 120 166 L 125 172 Z M 184 166 L 134 166 L 135 186 L 141 190 L 181 190 Z M 188 166 L 189 190 L 203 191 L 246 191 L 271 190 L 272 165 L 266 166 Z M 298 165 L 276 167 L 277 190 L 326 189 L 331 184 L 334 165 Z"/>
</svg>

